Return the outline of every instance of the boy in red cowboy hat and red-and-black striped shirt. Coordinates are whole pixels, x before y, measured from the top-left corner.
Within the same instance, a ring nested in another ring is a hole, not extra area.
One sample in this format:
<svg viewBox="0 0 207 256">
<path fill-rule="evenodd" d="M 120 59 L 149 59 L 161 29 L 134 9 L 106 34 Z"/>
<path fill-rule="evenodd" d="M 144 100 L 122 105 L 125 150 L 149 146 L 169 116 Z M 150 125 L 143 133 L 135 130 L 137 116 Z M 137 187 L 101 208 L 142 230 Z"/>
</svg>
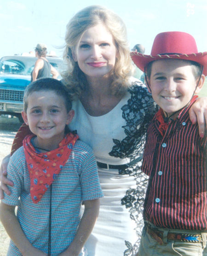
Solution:
<svg viewBox="0 0 207 256">
<path fill-rule="evenodd" d="M 160 106 L 144 148 L 142 169 L 150 180 L 138 255 L 204 255 L 206 136 L 199 137 L 188 111 L 207 76 L 207 52 L 197 51 L 191 35 L 174 31 L 158 34 L 150 55 L 131 57 Z"/>
</svg>

